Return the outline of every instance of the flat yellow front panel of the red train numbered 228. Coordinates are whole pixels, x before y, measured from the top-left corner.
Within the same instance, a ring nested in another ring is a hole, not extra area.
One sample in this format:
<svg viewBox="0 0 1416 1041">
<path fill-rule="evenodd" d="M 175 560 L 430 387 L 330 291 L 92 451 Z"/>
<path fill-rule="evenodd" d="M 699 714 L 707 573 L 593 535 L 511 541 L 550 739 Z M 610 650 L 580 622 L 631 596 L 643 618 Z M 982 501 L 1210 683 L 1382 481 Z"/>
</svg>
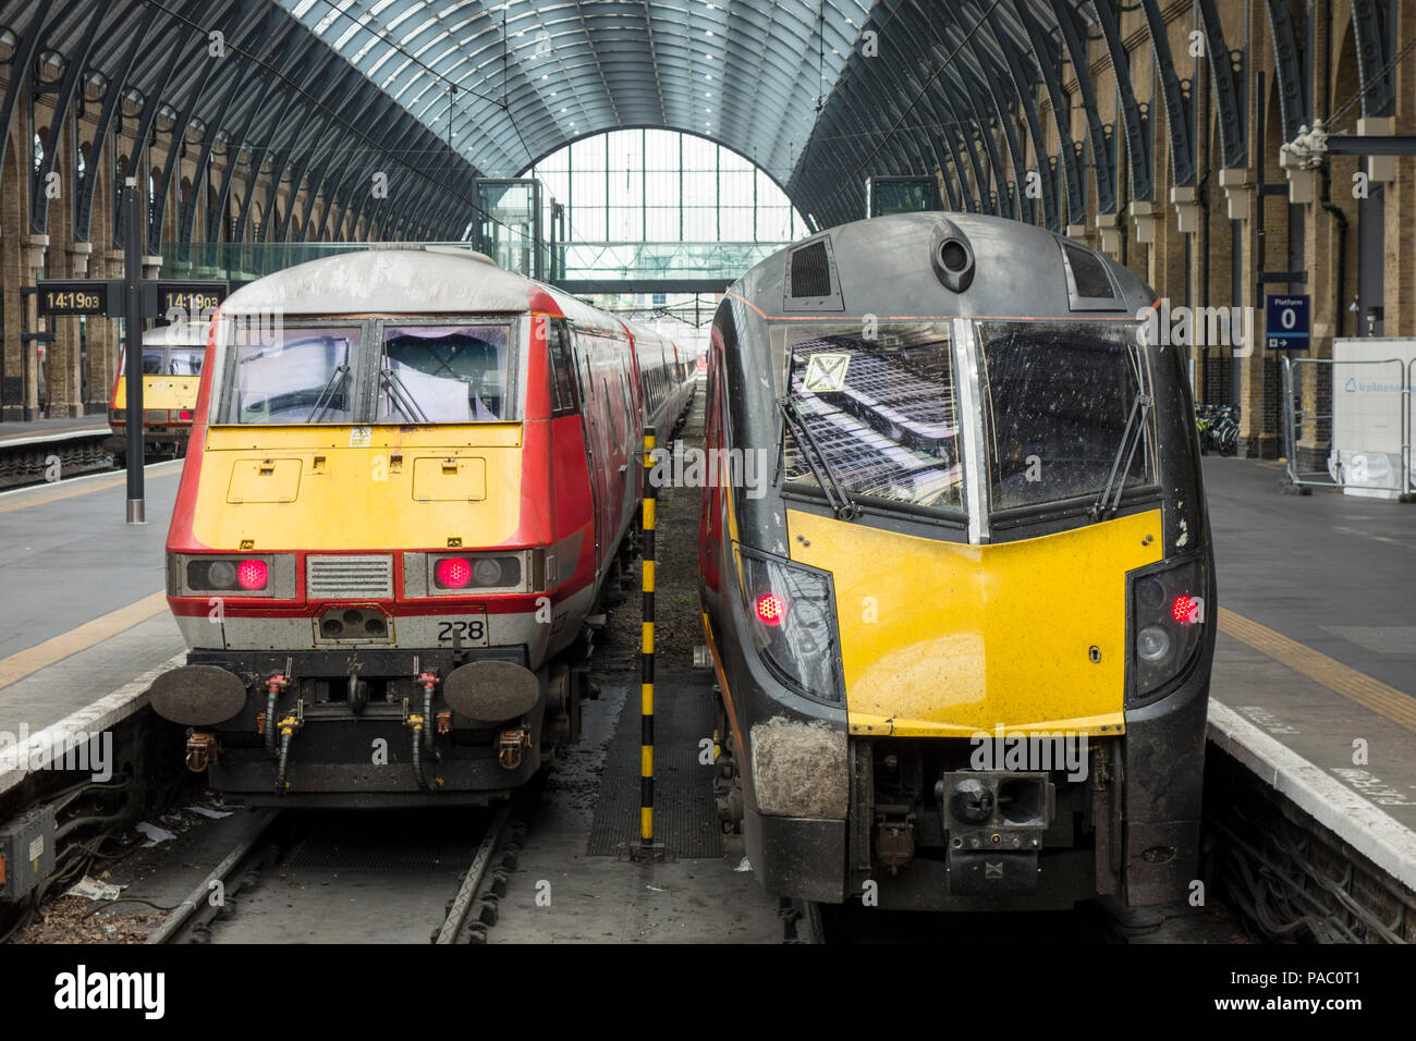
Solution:
<svg viewBox="0 0 1416 1041">
<path fill-rule="evenodd" d="M 217 550 L 500 545 L 521 524 L 520 433 L 518 423 L 211 428 L 193 534 Z M 268 455 L 253 457 L 258 446 Z M 443 460 L 457 472 L 479 469 L 484 497 L 418 501 L 415 460 L 429 456 L 439 476 Z M 265 459 L 278 466 L 262 477 Z M 259 487 L 286 473 L 297 474 L 289 501 L 228 501 L 231 489 Z"/>
</svg>

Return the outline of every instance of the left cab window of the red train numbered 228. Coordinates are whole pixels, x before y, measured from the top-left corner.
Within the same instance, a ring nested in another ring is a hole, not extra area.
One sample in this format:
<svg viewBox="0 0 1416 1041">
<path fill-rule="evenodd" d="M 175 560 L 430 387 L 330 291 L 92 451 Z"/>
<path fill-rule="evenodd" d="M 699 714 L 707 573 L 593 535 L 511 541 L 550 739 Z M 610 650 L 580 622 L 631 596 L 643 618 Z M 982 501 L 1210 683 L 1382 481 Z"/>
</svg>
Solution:
<svg viewBox="0 0 1416 1041">
<path fill-rule="evenodd" d="M 361 339 L 358 326 L 259 323 L 236 330 L 224 422 L 353 422 Z"/>
</svg>

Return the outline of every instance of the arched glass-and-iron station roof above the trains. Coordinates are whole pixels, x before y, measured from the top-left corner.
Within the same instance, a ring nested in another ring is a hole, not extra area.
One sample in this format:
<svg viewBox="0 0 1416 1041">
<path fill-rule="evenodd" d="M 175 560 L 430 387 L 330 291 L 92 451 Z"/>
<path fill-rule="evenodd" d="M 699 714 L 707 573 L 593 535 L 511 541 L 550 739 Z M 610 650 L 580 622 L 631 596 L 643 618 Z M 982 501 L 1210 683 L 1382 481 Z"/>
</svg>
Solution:
<svg viewBox="0 0 1416 1041">
<path fill-rule="evenodd" d="M 1233 55 L 1219 3 L 1195 0 L 1197 21 L 1209 54 Z M 1276 54 L 1291 139 L 1310 119 L 1303 34 L 1286 0 L 1255 7 L 1269 40 L 1250 42 Z M 1392 44 L 1376 6 L 1354 11 L 1362 115 L 1386 115 Z M 405 235 L 456 237 L 473 178 L 510 177 L 572 139 L 633 126 L 750 157 L 817 225 L 860 215 L 867 176 L 935 169 L 949 171 L 952 208 L 1078 224 L 1092 191 L 1097 212 L 1114 212 L 1117 170 L 1127 198 L 1155 200 L 1157 156 L 1171 186 L 1195 184 L 1189 91 L 1167 35 L 1161 0 L 0 0 L 0 58 L 8 48 L 11 74 L 28 69 L 54 95 L 57 119 L 78 101 L 137 120 L 139 140 L 236 147 L 270 177 L 333 198 L 327 212 Z M 1089 62 L 1076 61 L 1096 40 L 1119 71 L 1137 47 L 1153 52 L 1157 110 L 1133 96 L 1127 72 L 1116 122 L 1103 125 Z M 1245 76 L 1206 65 L 1223 166 L 1245 166 Z M 8 79 L 7 126 L 21 78 Z M 1072 79 L 1079 96 L 1063 93 Z M 1041 198 L 1021 187 L 1028 139 L 1048 167 Z M 379 170 L 391 191 L 374 204 L 362 186 Z M 31 195 L 41 232 L 48 201 Z M 82 198 L 75 221 L 86 229 Z"/>
</svg>

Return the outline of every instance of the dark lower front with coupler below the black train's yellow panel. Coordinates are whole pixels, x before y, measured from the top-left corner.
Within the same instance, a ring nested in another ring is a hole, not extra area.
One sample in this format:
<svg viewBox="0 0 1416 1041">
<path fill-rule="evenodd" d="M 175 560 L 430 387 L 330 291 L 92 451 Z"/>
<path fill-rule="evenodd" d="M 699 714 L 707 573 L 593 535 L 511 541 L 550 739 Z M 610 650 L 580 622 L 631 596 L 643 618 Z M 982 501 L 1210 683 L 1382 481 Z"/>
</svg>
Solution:
<svg viewBox="0 0 1416 1041">
<path fill-rule="evenodd" d="M 1001 756 L 978 769 L 971 738 L 848 734 L 841 707 L 801 698 L 743 653 L 736 613 L 711 632 L 731 693 L 718 701 L 715 796 L 770 894 L 935 911 L 1192 898 L 1212 652 L 1127 710 L 1123 735 L 1089 738 L 1085 769 L 1065 752 L 1061 769 Z"/>
</svg>

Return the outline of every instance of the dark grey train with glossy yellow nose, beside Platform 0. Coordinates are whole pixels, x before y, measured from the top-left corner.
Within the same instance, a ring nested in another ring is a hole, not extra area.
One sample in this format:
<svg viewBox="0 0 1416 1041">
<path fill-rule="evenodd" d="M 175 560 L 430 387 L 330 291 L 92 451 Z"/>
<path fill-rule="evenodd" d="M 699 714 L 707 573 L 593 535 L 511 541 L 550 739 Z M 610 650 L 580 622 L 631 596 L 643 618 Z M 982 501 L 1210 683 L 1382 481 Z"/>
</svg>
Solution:
<svg viewBox="0 0 1416 1041">
<path fill-rule="evenodd" d="M 1080 244 L 937 212 L 833 228 L 725 296 L 708 448 L 763 476 L 704 490 L 701 601 L 719 813 L 769 891 L 1189 891 L 1214 562 L 1153 303 Z"/>
</svg>

